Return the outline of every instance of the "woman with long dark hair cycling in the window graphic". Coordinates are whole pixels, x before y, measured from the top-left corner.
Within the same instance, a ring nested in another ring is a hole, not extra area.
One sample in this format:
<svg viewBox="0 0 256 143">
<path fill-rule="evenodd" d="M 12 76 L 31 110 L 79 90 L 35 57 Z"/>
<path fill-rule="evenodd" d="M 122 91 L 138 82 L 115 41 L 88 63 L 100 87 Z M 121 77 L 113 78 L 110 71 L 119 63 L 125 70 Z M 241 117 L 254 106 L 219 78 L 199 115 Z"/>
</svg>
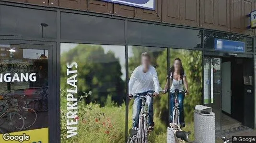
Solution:
<svg viewBox="0 0 256 143">
<path fill-rule="evenodd" d="M 171 121 L 173 121 L 173 110 L 175 106 L 175 89 L 178 89 L 179 91 L 184 91 L 184 87 L 186 89 L 186 94 L 188 95 L 188 85 L 186 81 L 186 73 L 184 71 L 184 68 L 182 66 L 182 62 L 179 58 L 176 58 L 174 60 L 174 64 L 170 69 L 170 80 L 171 80 L 171 99 L 170 99 L 170 115 L 171 115 Z M 164 86 L 164 90 L 168 89 L 168 80 L 166 81 L 166 84 Z M 185 92 L 179 92 L 177 96 L 177 100 L 179 102 L 179 121 L 181 127 L 185 127 L 185 120 L 184 120 L 184 107 L 183 107 L 183 101 L 185 98 Z"/>
</svg>

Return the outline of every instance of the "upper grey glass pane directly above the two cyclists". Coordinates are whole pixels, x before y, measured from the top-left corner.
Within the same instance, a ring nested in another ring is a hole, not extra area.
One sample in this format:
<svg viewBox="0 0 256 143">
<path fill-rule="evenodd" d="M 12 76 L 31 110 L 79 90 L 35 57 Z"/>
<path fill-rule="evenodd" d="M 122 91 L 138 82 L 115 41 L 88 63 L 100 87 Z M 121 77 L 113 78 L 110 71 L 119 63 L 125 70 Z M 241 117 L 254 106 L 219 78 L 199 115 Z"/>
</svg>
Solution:
<svg viewBox="0 0 256 143">
<path fill-rule="evenodd" d="M 128 21 L 129 45 L 161 45 L 174 48 L 201 48 L 202 31 Z"/>
</svg>

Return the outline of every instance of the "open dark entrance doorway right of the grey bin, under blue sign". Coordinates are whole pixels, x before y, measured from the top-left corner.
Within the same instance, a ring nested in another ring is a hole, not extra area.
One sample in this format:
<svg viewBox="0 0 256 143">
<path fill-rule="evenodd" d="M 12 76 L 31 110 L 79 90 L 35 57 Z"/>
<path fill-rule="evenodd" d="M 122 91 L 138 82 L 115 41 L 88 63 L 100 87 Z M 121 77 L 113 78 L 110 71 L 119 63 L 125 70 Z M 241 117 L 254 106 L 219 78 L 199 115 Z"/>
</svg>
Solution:
<svg viewBox="0 0 256 143">
<path fill-rule="evenodd" d="M 253 76 L 253 59 L 239 57 L 204 58 L 204 104 L 212 107 L 215 113 L 215 130 L 223 131 L 241 126 L 254 128 L 254 100 L 248 95 L 244 77 Z M 252 90 L 249 90 L 253 92 Z M 252 94 L 253 96 L 253 94 Z M 248 104 L 252 105 L 246 107 Z"/>
</svg>

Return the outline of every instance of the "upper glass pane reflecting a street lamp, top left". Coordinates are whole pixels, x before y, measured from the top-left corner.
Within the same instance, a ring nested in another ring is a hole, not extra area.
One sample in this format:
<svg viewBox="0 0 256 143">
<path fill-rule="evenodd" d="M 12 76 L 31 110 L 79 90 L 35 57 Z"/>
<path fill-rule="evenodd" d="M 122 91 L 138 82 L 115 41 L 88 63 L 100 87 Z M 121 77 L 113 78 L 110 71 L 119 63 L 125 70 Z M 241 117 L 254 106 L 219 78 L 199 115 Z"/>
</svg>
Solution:
<svg viewBox="0 0 256 143">
<path fill-rule="evenodd" d="M 0 5 L 0 35 L 57 38 L 57 12 Z"/>
</svg>

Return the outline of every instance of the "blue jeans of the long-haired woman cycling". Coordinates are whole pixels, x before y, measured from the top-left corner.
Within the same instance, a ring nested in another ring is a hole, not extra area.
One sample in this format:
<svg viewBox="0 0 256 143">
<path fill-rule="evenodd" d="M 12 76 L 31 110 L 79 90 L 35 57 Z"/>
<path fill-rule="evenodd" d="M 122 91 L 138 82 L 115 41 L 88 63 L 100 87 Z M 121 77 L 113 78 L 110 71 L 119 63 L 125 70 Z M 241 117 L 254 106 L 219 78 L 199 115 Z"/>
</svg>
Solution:
<svg viewBox="0 0 256 143">
<path fill-rule="evenodd" d="M 184 106 L 183 106 L 183 101 L 185 98 L 185 93 L 184 92 L 179 92 L 177 96 L 177 101 L 179 102 L 179 110 L 180 110 L 180 124 L 185 125 L 185 120 L 184 120 Z M 174 112 L 174 107 L 175 107 L 175 93 L 171 92 L 171 99 L 170 99 L 170 115 L 171 115 L 171 122 L 173 122 L 173 112 Z"/>
</svg>

